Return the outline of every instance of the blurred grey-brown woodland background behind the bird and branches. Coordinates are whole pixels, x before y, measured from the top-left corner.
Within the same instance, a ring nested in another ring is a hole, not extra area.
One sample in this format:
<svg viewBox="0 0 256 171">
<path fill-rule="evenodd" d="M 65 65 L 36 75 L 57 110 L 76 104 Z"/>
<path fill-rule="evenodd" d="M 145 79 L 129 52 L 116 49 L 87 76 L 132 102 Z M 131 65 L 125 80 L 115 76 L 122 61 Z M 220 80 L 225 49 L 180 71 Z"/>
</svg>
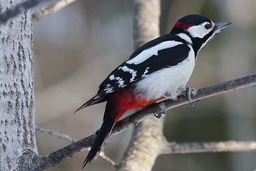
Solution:
<svg viewBox="0 0 256 171">
<path fill-rule="evenodd" d="M 44 4 L 45 5 L 45 4 Z M 232 25 L 199 53 L 187 86 L 203 88 L 255 74 L 255 0 L 163 0 L 161 35 L 188 14 L 202 14 Z M 76 1 L 34 22 L 36 125 L 76 140 L 102 123 L 105 103 L 73 112 L 96 94 L 108 73 L 133 53 L 133 1 Z M 164 133 L 169 141 L 256 140 L 256 87 L 217 95 L 168 111 Z M 131 128 L 108 140 L 105 152 L 117 163 L 130 140 Z M 36 132 L 39 155 L 68 142 Z M 81 170 L 86 151 L 49 170 Z M 255 170 L 255 152 L 161 155 L 153 170 Z M 114 170 L 100 157 L 86 170 Z"/>
</svg>

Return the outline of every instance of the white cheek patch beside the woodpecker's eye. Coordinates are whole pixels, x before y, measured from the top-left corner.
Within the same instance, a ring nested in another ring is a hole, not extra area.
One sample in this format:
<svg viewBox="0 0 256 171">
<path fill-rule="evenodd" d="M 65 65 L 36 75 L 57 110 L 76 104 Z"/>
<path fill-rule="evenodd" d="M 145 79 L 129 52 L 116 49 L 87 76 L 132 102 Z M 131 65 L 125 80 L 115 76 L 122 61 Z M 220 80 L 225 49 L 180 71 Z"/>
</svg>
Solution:
<svg viewBox="0 0 256 171">
<path fill-rule="evenodd" d="M 203 38 L 205 35 L 210 33 L 210 31 L 212 31 L 214 27 L 212 25 L 212 28 L 206 29 L 205 24 L 209 24 L 209 22 L 204 22 L 203 24 L 200 24 L 198 26 L 190 26 L 187 31 L 188 33 L 190 33 L 191 36 L 193 36 L 193 38 Z"/>
</svg>

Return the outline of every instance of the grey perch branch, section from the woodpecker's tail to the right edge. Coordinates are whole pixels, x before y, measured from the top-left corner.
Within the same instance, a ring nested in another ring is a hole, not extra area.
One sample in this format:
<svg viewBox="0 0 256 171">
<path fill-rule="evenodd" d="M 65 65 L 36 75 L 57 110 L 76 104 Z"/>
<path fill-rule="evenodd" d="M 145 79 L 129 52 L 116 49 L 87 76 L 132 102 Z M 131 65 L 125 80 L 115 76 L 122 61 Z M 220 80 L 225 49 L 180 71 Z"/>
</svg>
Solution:
<svg viewBox="0 0 256 171">
<path fill-rule="evenodd" d="M 239 88 L 244 88 L 247 86 L 256 85 L 256 74 L 251 76 L 246 76 L 243 78 L 237 78 L 232 81 L 226 81 L 224 83 L 219 83 L 214 86 L 210 86 L 207 88 L 201 88 L 198 90 L 198 93 L 195 96 L 192 96 L 192 100 L 201 100 L 203 98 L 209 98 L 213 95 L 218 95 L 221 93 L 226 93 L 231 90 L 237 90 Z M 180 105 L 185 105 L 188 103 L 188 100 L 185 96 L 179 95 L 177 100 L 164 100 L 160 103 L 153 103 L 149 105 L 147 108 L 143 108 L 132 115 L 129 115 L 123 120 L 118 121 L 116 123 L 115 128 L 113 128 L 112 135 L 116 135 L 117 133 L 125 130 L 126 128 L 130 128 L 132 125 L 137 125 L 145 118 L 152 116 L 152 113 L 159 113 L 165 110 L 169 110 L 171 108 L 176 108 Z"/>
</svg>

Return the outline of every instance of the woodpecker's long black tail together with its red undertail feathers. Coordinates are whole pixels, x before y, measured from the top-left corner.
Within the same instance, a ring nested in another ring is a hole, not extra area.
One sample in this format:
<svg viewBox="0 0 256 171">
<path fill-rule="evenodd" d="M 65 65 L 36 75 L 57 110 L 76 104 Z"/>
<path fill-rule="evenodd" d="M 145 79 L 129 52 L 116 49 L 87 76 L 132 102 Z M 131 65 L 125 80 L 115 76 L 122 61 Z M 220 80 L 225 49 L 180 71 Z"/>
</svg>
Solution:
<svg viewBox="0 0 256 171">
<path fill-rule="evenodd" d="M 97 157 L 101 150 L 103 150 L 113 126 L 116 125 L 124 113 L 134 108 L 144 108 L 158 100 L 160 99 L 146 100 L 133 93 L 130 89 L 118 90 L 111 94 L 107 100 L 103 124 L 97 131 L 96 140 L 93 142 L 91 150 L 86 160 L 83 162 L 83 167 L 85 167 L 88 162 L 91 162 L 93 158 Z"/>
</svg>

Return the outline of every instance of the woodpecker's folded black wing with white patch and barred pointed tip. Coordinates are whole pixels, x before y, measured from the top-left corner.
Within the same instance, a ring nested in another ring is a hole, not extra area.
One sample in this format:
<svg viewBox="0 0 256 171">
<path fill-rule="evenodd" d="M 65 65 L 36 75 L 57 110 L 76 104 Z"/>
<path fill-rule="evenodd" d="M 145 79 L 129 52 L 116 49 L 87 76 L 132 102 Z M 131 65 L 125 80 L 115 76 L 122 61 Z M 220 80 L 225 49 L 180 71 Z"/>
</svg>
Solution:
<svg viewBox="0 0 256 171">
<path fill-rule="evenodd" d="M 188 58 L 190 47 L 178 36 L 173 41 L 173 36 L 175 35 L 160 36 L 138 48 L 127 61 L 113 70 L 101 83 L 97 95 L 78 110 L 106 101 L 111 93 L 132 87 L 150 73 L 161 68 L 176 66 Z"/>
</svg>

